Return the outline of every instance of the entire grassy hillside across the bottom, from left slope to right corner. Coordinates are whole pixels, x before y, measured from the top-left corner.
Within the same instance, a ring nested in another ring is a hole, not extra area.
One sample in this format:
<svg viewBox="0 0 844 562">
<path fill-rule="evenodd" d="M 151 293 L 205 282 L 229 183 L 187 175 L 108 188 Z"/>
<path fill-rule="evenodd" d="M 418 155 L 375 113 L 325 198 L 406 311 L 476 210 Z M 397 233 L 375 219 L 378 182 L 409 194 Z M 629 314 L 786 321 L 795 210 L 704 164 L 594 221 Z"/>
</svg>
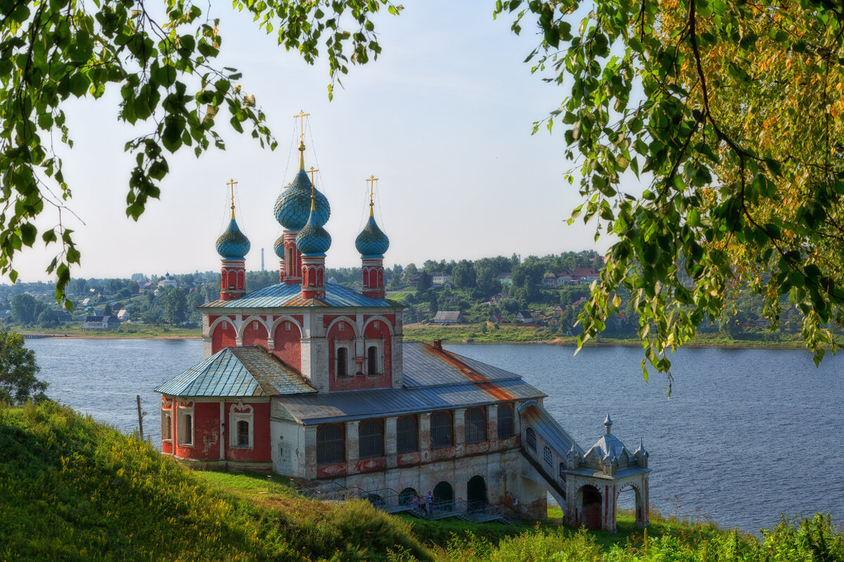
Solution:
<svg viewBox="0 0 844 562">
<path fill-rule="evenodd" d="M 284 480 L 284 479 L 283 479 Z M 191 472 L 149 444 L 46 403 L 0 404 L 0 562 L 385 560 L 389 562 L 841 562 L 827 517 L 760 538 L 652 514 L 619 533 L 391 517 L 365 501 L 317 502 L 261 474 Z"/>
</svg>

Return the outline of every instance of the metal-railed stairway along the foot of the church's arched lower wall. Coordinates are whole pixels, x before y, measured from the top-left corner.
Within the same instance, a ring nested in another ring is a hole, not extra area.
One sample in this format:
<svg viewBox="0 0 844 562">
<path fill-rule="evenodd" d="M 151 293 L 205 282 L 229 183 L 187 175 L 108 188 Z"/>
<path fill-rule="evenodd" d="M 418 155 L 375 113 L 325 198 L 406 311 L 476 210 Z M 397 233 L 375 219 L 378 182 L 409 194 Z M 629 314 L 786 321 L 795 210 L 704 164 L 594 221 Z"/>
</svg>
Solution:
<svg viewBox="0 0 844 562">
<path fill-rule="evenodd" d="M 485 502 L 467 502 L 457 499 L 440 501 L 433 504 L 431 512 L 414 510 L 411 498 L 389 488 L 382 490 L 364 490 L 360 486 L 344 486 L 334 482 L 312 483 L 300 481 L 294 489 L 306 497 L 322 501 L 368 500 L 372 506 L 387 513 L 407 513 L 413 517 L 436 521 L 448 517 L 457 517 L 463 521 L 476 523 L 500 522 L 511 525 L 504 514 L 504 506 L 490 506 Z"/>
</svg>

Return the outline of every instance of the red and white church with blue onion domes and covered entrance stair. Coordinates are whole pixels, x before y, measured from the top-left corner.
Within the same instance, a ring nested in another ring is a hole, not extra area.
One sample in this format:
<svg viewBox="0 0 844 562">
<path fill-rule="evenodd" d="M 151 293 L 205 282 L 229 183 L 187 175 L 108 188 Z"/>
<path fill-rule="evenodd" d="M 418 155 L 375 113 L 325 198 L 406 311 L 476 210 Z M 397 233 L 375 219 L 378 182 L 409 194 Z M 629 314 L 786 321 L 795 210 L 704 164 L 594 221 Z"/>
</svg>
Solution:
<svg viewBox="0 0 844 562">
<path fill-rule="evenodd" d="M 517 374 L 403 341 L 403 305 L 386 297 L 387 235 L 370 214 L 355 239 L 363 288 L 327 283 L 331 209 L 299 170 L 274 206 L 279 283 L 246 289 L 250 242 L 231 220 L 217 240 L 219 300 L 200 308 L 203 361 L 155 388 L 161 450 L 187 466 L 266 471 L 311 490 L 366 490 L 408 506 L 544 519 L 551 495 L 566 522 L 615 529 L 634 490 L 648 522 L 648 453 L 612 435 L 583 449 Z"/>
</svg>

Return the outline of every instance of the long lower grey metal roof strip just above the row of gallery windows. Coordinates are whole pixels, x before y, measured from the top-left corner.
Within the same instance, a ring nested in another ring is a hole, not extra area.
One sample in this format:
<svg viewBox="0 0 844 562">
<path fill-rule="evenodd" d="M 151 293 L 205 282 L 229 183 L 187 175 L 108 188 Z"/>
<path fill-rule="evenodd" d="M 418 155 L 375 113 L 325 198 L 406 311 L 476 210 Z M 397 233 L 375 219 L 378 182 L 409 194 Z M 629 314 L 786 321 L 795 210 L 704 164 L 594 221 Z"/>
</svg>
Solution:
<svg viewBox="0 0 844 562">
<path fill-rule="evenodd" d="M 520 378 L 502 381 L 496 387 L 511 399 L 516 400 L 537 399 L 544 396 Z M 328 394 L 297 394 L 278 396 L 273 401 L 295 420 L 311 425 L 495 404 L 500 402 L 500 399 L 481 385 L 467 382 L 438 387 L 378 388 Z"/>
</svg>

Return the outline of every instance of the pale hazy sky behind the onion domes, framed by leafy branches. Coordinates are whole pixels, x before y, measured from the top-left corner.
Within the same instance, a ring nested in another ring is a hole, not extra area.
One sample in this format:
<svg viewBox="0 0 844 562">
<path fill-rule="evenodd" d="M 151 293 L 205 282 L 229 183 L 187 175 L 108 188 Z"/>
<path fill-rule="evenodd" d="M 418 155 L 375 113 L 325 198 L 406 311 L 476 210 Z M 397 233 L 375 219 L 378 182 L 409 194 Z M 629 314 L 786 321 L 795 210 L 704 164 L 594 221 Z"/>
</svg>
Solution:
<svg viewBox="0 0 844 562">
<path fill-rule="evenodd" d="M 273 242 L 281 227 L 273 204 L 296 169 L 293 115 L 310 113 L 306 167 L 331 203 L 329 267 L 360 264 L 354 238 L 368 207 L 365 179 L 374 174 L 376 220 L 390 238 L 385 264 L 429 259 L 557 254 L 595 248 L 594 225 L 568 227 L 578 205 L 563 178 L 562 126 L 531 136 L 565 97 L 523 63 L 537 41 L 533 29 L 513 35 L 509 19 L 492 19 L 493 3 L 410 2 L 398 17 L 377 19 L 383 49 L 376 62 L 350 67 L 344 88 L 327 99 L 327 63 L 308 66 L 264 35 L 246 13 L 214 7 L 224 38 L 219 66 L 237 67 L 279 141 L 273 152 L 231 130 L 220 110 L 225 152 L 170 155 L 160 201 L 138 222 L 125 199 L 133 158 L 124 143 L 148 131 L 117 122 L 116 88 L 99 101 L 67 110 L 75 143 L 64 147 L 73 186 L 62 216 L 76 229 L 82 266 L 73 276 L 126 277 L 216 270 L 214 243 L 227 225 L 226 182 L 238 181 L 237 221 L 252 242 L 246 267 L 278 268 Z M 49 207 L 40 227 L 55 224 Z M 603 241 L 602 241 L 603 243 Z M 598 249 L 603 250 L 606 243 Z M 15 259 L 21 281 L 46 280 L 57 249 L 26 249 Z"/>
</svg>

